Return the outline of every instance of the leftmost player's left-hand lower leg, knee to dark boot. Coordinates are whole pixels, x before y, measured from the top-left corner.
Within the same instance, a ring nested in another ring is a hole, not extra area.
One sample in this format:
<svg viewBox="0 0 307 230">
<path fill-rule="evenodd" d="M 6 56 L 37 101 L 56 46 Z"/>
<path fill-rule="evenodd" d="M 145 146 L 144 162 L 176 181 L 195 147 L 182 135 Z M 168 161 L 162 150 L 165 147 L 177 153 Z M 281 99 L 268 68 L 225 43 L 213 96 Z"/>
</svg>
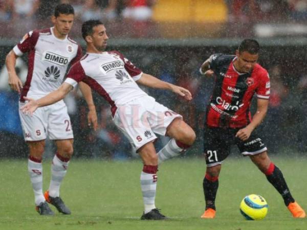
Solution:
<svg viewBox="0 0 307 230">
<path fill-rule="evenodd" d="M 42 154 L 45 151 L 45 140 L 27 142 L 30 150 L 28 172 L 35 196 L 36 211 L 40 215 L 54 215 L 42 193 Z"/>
</svg>

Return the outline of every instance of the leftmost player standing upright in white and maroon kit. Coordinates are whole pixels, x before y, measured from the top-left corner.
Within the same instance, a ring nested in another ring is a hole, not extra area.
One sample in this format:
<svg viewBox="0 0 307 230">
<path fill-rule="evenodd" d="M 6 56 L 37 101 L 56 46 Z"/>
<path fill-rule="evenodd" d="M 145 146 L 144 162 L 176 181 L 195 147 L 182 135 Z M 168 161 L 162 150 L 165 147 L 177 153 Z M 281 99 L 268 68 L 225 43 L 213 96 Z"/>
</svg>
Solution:
<svg viewBox="0 0 307 230">
<path fill-rule="evenodd" d="M 64 79 L 68 65 L 76 63 L 82 57 L 80 45 L 68 37 L 74 21 L 74 8 L 69 4 L 56 6 L 52 21 L 54 27 L 27 33 L 7 55 L 9 84 L 13 90 L 21 94 L 20 107 L 25 104 L 25 96 L 39 99 L 57 89 Z M 28 53 L 29 64 L 27 80 L 23 86 L 16 75 L 15 63 L 17 57 L 24 53 Z M 91 88 L 85 83 L 79 86 L 89 105 L 89 124 L 93 123 L 96 128 L 97 116 Z M 47 203 L 49 202 L 59 212 L 70 214 L 70 210 L 59 197 L 60 184 L 73 154 L 73 131 L 65 103 L 60 100 L 53 105 L 40 108 L 32 117 L 21 112 L 19 116 L 30 150 L 28 172 L 34 191 L 36 211 L 40 215 L 53 215 Z M 47 134 L 55 141 L 57 152 L 52 160 L 50 187 L 43 194 L 41 160 Z"/>
</svg>

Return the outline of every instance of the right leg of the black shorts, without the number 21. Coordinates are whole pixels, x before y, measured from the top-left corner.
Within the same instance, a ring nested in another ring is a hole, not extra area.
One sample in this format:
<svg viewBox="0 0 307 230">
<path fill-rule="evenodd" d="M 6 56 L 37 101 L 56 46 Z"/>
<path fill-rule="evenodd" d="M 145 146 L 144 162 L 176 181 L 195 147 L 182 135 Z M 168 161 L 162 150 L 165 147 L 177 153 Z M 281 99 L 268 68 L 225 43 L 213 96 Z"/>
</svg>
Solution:
<svg viewBox="0 0 307 230">
<path fill-rule="evenodd" d="M 257 155 L 259 153 L 267 151 L 266 144 L 262 141 L 261 137 L 258 135 L 257 130 L 254 130 L 249 139 L 246 141 L 238 141 L 237 146 L 240 152 L 244 156 Z"/>
</svg>

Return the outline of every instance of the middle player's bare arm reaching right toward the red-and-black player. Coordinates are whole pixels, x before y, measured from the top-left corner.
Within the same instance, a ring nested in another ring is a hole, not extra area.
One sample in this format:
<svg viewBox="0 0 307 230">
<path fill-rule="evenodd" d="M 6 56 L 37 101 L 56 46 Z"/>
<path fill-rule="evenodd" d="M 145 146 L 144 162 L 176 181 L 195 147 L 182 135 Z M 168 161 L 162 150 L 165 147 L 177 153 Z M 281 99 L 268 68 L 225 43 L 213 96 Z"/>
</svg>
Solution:
<svg viewBox="0 0 307 230">
<path fill-rule="evenodd" d="M 186 88 L 183 88 L 177 85 L 173 85 L 165 81 L 161 81 L 160 79 L 155 78 L 149 74 L 142 74 L 142 77 L 139 80 L 137 80 L 137 83 L 151 87 L 151 88 L 171 90 L 173 91 L 173 93 L 184 97 L 188 101 L 192 99 L 192 95 L 190 91 L 187 90 Z"/>
</svg>

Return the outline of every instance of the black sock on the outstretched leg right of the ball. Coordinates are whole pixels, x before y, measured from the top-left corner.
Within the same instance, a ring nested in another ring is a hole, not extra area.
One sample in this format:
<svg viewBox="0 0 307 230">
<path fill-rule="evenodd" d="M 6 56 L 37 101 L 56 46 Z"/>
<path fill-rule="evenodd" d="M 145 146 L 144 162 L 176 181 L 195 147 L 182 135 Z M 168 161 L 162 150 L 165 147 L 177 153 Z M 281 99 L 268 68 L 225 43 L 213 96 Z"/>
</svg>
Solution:
<svg viewBox="0 0 307 230">
<path fill-rule="evenodd" d="M 271 172 L 271 174 L 269 174 L 269 175 L 266 174 L 267 179 L 274 186 L 274 188 L 279 192 L 279 194 L 282 196 L 284 204 L 286 204 L 286 206 L 288 206 L 289 203 L 294 202 L 294 198 L 292 197 L 292 195 L 289 191 L 286 180 L 283 178 L 283 175 L 282 175 L 282 172 L 280 171 L 280 169 L 277 166 L 274 166 L 274 165 L 273 165 L 273 167 L 274 167 L 273 172 Z M 270 170 L 270 168 L 269 168 L 269 170 Z"/>
</svg>

